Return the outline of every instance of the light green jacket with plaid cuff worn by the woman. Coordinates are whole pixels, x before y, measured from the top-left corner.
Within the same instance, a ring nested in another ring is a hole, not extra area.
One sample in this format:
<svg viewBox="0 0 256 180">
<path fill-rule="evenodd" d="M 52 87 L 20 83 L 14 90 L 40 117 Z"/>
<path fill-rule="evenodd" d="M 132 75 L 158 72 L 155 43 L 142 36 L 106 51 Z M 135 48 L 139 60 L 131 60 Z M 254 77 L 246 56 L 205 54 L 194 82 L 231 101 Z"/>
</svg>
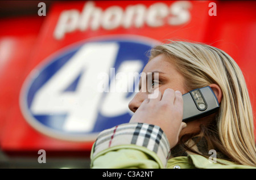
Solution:
<svg viewBox="0 0 256 180">
<path fill-rule="evenodd" d="M 163 131 L 146 123 L 127 123 L 102 131 L 93 145 L 91 168 L 255 168 L 234 162 L 209 160 L 200 155 L 169 158 L 170 146 Z"/>
</svg>

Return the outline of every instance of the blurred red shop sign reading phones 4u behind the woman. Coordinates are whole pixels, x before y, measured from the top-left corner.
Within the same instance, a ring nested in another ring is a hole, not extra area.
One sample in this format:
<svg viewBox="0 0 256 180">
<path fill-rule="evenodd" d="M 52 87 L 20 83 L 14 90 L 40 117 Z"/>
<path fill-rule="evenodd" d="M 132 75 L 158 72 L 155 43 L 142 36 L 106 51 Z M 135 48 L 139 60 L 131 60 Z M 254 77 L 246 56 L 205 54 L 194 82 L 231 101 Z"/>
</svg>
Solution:
<svg viewBox="0 0 256 180">
<path fill-rule="evenodd" d="M 30 57 L 23 56 L 15 72 L 11 71 L 15 64 L 10 63 L 5 74 L 7 70 L 12 74 L 1 76 L 6 86 L 0 95 L 7 105 L 1 106 L 6 110 L 1 113 L 5 119 L 2 149 L 90 151 L 97 132 L 108 128 L 108 122 L 114 125 L 118 118 L 129 118 L 127 101 L 133 96 L 117 95 L 115 101 L 114 96 L 89 91 L 93 73 L 110 67 L 140 71 L 145 60 L 139 54 L 158 41 L 217 41 L 213 46 L 229 53 L 245 72 L 252 95 L 256 84 L 251 58 L 256 56 L 253 8 L 242 2 L 217 2 L 217 16 L 210 16 L 209 10 L 208 1 L 56 2 L 36 42 L 26 38 L 27 47 L 33 46 Z M 26 43 L 14 47 L 23 50 Z M 91 61 L 81 61 L 88 57 Z M 15 79 L 12 75 L 18 79 L 10 81 Z M 85 107 L 86 113 L 79 107 Z"/>
</svg>

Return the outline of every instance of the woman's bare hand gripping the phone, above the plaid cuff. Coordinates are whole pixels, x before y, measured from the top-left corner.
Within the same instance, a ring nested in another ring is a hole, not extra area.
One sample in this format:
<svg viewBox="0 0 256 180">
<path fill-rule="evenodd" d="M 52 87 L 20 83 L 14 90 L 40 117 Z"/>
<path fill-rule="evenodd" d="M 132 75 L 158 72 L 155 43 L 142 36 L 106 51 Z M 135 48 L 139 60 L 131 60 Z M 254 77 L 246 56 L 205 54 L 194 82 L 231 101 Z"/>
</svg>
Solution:
<svg viewBox="0 0 256 180">
<path fill-rule="evenodd" d="M 181 92 L 167 88 L 163 95 L 159 91 L 156 98 L 145 99 L 131 117 L 130 123 L 140 122 L 159 126 L 165 132 L 172 148 L 179 140 L 180 131 L 186 126 L 182 122 L 182 116 Z"/>
</svg>

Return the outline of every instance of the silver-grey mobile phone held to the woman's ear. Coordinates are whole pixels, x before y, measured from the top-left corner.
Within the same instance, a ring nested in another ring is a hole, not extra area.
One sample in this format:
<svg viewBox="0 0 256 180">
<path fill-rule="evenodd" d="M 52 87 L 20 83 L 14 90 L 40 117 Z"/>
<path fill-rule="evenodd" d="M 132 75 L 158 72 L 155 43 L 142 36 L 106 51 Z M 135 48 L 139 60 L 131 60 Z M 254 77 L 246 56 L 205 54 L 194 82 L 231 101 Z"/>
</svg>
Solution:
<svg viewBox="0 0 256 180">
<path fill-rule="evenodd" d="M 218 99 L 209 86 L 193 89 L 182 95 L 183 122 L 193 121 L 216 112 L 220 108 Z"/>
</svg>

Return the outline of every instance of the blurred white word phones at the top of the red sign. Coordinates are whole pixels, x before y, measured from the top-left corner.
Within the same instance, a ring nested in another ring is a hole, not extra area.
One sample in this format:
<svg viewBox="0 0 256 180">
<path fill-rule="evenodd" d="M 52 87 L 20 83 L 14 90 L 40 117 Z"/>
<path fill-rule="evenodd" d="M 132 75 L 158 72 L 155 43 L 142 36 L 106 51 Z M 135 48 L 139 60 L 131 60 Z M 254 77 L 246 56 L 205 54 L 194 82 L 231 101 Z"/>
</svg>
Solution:
<svg viewBox="0 0 256 180">
<path fill-rule="evenodd" d="M 191 2 L 174 2 L 168 7 L 166 3 L 154 3 L 150 7 L 142 4 L 130 5 L 123 10 L 119 6 L 110 6 L 106 10 L 96 7 L 95 3 L 85 3 L 82 12 L 79 10 L 65 10 L 61 12 L 53 36 L 57 40 L 64 38 L 65 34 L 76 30 L 96 31 L 100 27 L 106 30 L 115 28 L 141 28 L 143 25 L 161 27 L 165 24 L 181 25 L 190 18 L 189 8 Z"/>
</svg>

